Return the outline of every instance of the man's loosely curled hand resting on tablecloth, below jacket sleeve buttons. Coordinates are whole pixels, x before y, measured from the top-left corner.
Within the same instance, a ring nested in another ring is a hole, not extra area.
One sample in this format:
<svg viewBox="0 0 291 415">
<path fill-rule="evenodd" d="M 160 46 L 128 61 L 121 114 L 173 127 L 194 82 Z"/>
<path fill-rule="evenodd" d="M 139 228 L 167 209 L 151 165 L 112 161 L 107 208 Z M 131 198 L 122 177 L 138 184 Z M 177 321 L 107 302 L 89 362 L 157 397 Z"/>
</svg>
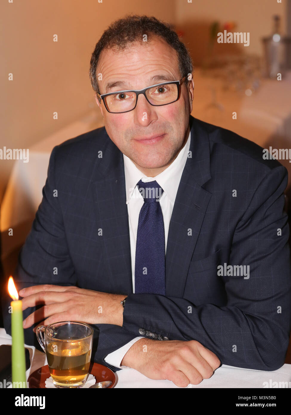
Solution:
<svg viewBox="0 0 291 415">
<path fill-rule="evenodd" d="M 220 360 L 196 340 L 139 339 L 125 354 L 121 365 L 136 369 L 150 379 L 168 379 L 185 388 L 212 376 Z"/>
</svg>

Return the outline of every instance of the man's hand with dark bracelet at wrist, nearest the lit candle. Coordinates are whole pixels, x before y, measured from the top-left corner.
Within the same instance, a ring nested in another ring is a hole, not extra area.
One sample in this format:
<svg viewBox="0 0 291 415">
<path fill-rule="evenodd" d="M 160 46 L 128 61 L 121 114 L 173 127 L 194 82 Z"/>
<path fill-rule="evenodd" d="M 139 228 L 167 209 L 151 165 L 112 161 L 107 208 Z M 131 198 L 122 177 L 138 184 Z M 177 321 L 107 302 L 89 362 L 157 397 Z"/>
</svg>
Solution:
<svg viewBox="0 0 291 415">
<path fill-rule="evenodd" d="M 44 304 L 44 307 L 34 311 L 24 320 L 24 328 L 40 321 L 39 325 L 44 326 L 67 320 L 118 326 L 122 326 L 123 323 L 123 307 L 120 301 L 125 295 L 122 294 L 49 284 L 28 287 L 20 290 L 19 294 L 24 297 L 22 310 Z"/>
</svg>

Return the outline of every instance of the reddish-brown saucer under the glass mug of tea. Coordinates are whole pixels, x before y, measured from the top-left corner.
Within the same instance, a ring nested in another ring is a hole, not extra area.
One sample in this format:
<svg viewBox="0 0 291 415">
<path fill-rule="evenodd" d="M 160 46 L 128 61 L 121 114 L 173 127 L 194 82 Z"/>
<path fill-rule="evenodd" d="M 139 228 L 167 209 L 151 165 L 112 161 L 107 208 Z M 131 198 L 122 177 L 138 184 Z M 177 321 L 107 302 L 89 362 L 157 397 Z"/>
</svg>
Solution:
<svg viewBox="0 0 291 415">
<path fill-rule="evenodd" d="M 102 364 L 91 362 L 89 373 L 95 376 L 96 382 L 111 381 L 112 383 L 108 386 L 108 389 L 114 388 L 117 383 L 115 373 Z M 48 365 L 40 367 L 29 375 L 29 378 L 27 379 L 29 388 L 46 388 L 45 381 L 50 376 Z"/>
</svg>

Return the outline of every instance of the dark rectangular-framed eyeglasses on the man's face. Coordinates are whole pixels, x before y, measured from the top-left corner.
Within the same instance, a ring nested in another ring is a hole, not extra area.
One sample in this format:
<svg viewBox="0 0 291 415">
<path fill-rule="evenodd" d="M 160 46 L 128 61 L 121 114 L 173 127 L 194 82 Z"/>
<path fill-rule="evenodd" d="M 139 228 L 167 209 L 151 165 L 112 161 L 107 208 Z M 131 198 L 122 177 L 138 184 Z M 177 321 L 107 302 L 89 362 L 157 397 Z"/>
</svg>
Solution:
<svg viewBox="0 0 291 415">
<path fill-rule="evenodd" d="M 179 81 L 169 81 L 157 83 L 144 89 L 127 89 L 122 91 L 110 92 L 100 95 L 97 93 L 98 101 L 103 100 L 104 106 L 108 112 L 119 114 L 120 112 L 129 112 L 134 110 L 137 105 L 139 94 L 145 96 L 148 103 L 159 107 L 174 103 L 179 98 L 179 85 L 186 79 L 186 76 Z M 157 92 L 160 90 L 160 92 Z"/>
</svg>

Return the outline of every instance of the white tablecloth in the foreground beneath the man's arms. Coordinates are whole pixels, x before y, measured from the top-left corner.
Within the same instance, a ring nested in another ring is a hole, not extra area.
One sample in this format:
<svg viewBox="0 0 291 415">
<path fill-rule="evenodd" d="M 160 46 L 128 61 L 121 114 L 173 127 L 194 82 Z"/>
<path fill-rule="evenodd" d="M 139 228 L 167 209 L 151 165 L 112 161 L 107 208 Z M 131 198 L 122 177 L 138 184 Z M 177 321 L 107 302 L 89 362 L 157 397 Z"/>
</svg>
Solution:
<svg viewBox="0 0 291 415">
<path fill-rule="evenodd" d="M 12 338 L 4 328 L 0 328 L 0 344 L 11 344 Z M 27 346 L 31 366 L 26 371 L 26 380 L 29 375 L 39 367 L 47 364 L 46 355 L 35 349 L 34 346 Z M 155 381 L 142 375 L 135 369 L 121 369 L 115 373 L 117 385 L 115 388 L 178 388 L 171 381 Z M 222 365 L 215 370 L 210 379 L 203 379 L 198 385 L 188 385 L 187 388 L 264 388 L 264 382 L 291 382 L 291 365 L 284 364 L 275 371 L 258 371 L 242 369 L 234 366 Z M 289 383 L 291 387 L 291 383 Z M 12 385 L 9 386 L 12 388 Z"/>
</svg>

